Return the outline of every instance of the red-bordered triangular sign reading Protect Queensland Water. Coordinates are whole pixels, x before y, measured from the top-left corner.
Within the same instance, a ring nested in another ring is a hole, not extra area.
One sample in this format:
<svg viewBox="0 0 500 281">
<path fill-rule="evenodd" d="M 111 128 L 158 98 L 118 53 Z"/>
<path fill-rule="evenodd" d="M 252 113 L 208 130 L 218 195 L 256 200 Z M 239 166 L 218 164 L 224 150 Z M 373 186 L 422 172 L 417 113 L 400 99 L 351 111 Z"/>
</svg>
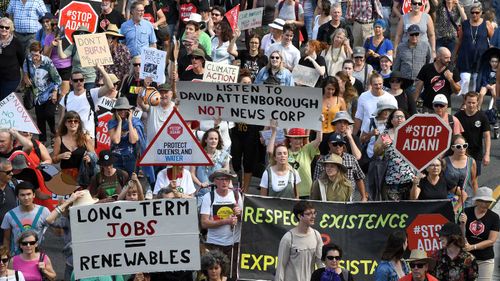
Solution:
<svg viewBox="0 0 500 281">
<path fill-rule="evenodd" d="M 212 166 L 200 142 L 174 108 L 142 154 L 139 166 Z"/>
</svg>

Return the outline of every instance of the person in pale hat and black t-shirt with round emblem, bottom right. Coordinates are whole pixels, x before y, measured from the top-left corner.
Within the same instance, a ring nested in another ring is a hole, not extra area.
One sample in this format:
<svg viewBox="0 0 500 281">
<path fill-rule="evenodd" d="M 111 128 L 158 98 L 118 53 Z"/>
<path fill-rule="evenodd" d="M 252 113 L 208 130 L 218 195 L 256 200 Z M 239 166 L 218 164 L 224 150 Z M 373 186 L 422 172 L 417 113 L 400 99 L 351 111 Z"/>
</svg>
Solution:
<svg viewBox="0 0 500 281">
<path fill-rule="evenodd" d="M 465 250 L 476 257 L 479 266 L 478 280 L 492 280 L 495 252 L 493 245 L 498 237 L 500 219 L 489 209 L 495 202 L 493 191 L 487 186 L 478 188 L 472 198 L 473 207 L 466 208 L 460 215 L 460 223 L 465 227 Z"/>
</svg>

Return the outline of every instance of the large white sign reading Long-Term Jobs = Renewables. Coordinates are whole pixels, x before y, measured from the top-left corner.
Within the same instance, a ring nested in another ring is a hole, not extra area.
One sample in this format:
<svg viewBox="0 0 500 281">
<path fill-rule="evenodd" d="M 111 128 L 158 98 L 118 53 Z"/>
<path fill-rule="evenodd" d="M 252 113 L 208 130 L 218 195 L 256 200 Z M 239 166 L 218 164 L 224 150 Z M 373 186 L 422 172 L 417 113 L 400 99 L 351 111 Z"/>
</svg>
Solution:
<svg viewBox="0 0 500 281">
<path fill-rule="evenodd" d="M 196 199 L 70 208 L 75 279 L 199 270 Z"/>
</svg>

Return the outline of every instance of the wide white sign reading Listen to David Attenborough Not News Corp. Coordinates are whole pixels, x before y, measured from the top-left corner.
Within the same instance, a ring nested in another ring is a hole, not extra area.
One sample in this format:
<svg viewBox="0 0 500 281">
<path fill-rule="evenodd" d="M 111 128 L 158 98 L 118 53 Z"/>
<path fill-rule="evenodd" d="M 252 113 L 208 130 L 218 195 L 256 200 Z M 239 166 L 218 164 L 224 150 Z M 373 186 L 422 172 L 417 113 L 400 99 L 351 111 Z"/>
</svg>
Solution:
<svg viewBox="0 0 500 281">
<path fill-rule="evenodd" d="M 188 120 L 222 120 L 321 130 L 320 88 L 179 81 L 180 111 Z"/>
</svg>

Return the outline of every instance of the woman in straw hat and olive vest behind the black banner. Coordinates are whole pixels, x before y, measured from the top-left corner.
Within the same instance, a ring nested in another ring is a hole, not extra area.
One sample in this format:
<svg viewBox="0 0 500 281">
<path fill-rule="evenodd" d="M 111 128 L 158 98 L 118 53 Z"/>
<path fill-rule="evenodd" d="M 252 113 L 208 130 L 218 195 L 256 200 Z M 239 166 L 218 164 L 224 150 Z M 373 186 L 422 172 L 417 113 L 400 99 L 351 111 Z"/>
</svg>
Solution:
<svg viewBox="0 0 500 281">
<path fill-rule="evenodd" d="M 347 168 L 342 164 L 342 158 L 332 153 L 320 164 L 324 165 L 325 171 L 314 181 L 311 189 L 311 199 L 349 202 L 352 185 L 346 177 Z"/>
</svg>

